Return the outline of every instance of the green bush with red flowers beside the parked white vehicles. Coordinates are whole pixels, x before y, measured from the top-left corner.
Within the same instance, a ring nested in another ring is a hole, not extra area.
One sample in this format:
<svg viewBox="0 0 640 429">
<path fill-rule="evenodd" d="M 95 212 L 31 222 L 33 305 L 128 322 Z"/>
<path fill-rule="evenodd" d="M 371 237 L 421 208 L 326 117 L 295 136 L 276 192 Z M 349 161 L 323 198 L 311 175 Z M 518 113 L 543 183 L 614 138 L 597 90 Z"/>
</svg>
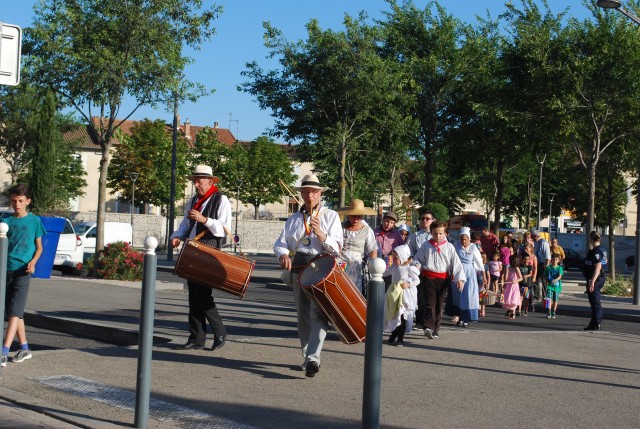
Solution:
<svg viewBox="0 0 640 429">
<path fill-rule="evenodd" d="M 117 241 L 105 246 L 98 253 L 97 277 L 109 280 L 142 280 L 144 252 L 133 249 L 129 243 Z M 87 261 L 83 272 L 93 271 L 94 256 Z"/>
</svg>

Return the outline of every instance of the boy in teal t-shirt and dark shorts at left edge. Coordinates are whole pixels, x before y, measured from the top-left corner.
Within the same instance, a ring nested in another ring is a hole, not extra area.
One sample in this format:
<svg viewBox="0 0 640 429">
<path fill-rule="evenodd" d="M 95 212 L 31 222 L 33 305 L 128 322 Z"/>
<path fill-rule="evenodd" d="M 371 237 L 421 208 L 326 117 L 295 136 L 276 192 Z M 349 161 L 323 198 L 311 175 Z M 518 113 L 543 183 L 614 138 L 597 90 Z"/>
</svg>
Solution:
<svg viewBox="0 0 640 429">
<path fill-rule="evenodd" d="M 35 271 L 36 262 L 42 254 L 41 237 L 46 234 L 40 218 L 27 211 L 27 207 L 31 204 L 29 189 L 25 185 L 16 185 L 9 189 L 8 194 L 14 213 L 12 217 L 2 219 L 2 221 L 9 225 L 7 233 L 9 240 L 7 295 L 5 300 L 9 324 L 2 344 L 0 368 L 7 366 L 9 350 L 16 335 L 20 349 L 12 361 L 23 362 L 32 357 L 29 343 L 27 343 L 23 317 L 31 274 Z"/>
</svg>

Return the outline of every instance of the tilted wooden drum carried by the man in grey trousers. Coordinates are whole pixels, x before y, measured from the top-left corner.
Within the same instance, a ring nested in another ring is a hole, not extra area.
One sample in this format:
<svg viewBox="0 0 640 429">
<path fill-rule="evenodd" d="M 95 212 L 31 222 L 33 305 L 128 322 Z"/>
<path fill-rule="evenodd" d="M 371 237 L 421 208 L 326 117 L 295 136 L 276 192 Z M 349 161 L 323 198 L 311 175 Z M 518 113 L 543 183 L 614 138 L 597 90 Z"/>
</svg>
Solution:
<svg viewBox="0 0 640 429">
<path fill-rule="evenodd" d="M 331 255 L 322 255 L 298 276 L 303 288 L 336 328 L 346 344 L 363 342 L 367 332 L 367 303 Z"/>
</svg>

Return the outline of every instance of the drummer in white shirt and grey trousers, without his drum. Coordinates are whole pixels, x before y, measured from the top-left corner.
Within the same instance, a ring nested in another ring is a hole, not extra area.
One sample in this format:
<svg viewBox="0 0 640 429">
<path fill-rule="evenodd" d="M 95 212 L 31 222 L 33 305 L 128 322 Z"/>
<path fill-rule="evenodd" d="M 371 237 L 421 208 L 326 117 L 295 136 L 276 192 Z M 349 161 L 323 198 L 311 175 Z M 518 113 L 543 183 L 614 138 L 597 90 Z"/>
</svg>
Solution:
<svg viewBox="0 0 640 429">
<path fill-rule="evenodd" d="M 307 377 L 314 377 L 320 371 L 320 353 L 328 325 L 320 309 L 298 286 L 298 275 L 315 256 L 321 253 L 340 254 L 342 226 L 338 213 L 323 207 L 320 199 L 327 188 L 320 185 L 315 174 L 304 176 L 296 190 L 304 204 L 299 212 L 287 219 L 273 251 L 285 270 L 283 280 L 293 289 L 304 357 L 302 367 Z"/>
</svg>

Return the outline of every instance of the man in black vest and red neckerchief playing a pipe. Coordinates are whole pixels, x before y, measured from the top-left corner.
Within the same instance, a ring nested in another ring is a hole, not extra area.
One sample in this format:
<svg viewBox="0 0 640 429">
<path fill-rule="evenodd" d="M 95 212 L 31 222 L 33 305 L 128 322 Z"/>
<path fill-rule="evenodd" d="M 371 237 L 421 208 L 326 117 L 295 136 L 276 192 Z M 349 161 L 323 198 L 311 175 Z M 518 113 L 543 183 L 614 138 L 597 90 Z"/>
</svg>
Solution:
<svg viewBox="0 0 640 429">
<path fill-rule="evenodd" d="M 224 238 L 231 228 L 231 204 L 226 195 L 218 192 L 215 186 L 220 179 L 213 175 L 208 165 L 196 166 L 189 176 L 196 195 L 186 205 L 184 218 L 170 239 L 175 248 L 180 241 L 194 239 L 204 233 L 200 242 L 219 249 L 224 244 Z M 213 300 L 213 290 L 189 280 L 189 339 L 178 347 L 180 350 L 202 349 L 207 338 L 207 320 L 213 328 L 213 346 L 217 350 L 224 346 L 227 330 L 222 323 L 216 303 Z"/>
</svg>

